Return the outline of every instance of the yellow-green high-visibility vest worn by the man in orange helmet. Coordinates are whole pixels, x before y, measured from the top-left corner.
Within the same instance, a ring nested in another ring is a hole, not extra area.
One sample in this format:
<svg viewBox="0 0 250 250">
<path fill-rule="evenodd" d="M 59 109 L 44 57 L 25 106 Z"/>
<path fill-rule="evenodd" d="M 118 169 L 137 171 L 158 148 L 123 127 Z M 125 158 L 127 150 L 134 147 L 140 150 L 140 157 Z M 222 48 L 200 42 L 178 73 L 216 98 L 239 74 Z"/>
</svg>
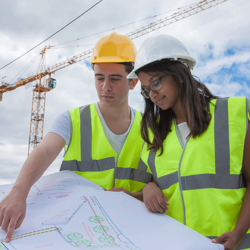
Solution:
<svg viewBox="0 0 250 250">
<path fill-rule="evenodd" d="M 122 187 L 142 190 L 152 174 L 141 161 L 141 113 L 134 122 L 118 155 L 109 144 L 95 105 L 70 110 L 72 138 L 60 170 L 72 170 L 105 189 Z"/>
</svg>

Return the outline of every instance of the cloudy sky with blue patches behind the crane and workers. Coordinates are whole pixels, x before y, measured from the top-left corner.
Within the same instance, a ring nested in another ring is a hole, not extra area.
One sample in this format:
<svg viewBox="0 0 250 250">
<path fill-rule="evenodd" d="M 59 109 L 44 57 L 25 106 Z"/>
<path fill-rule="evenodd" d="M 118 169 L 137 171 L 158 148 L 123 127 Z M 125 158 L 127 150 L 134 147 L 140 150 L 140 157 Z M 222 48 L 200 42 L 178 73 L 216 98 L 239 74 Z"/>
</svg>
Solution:
<svg viewBox="0 0 250 250">
<path fill-rule="evenodd" d="M 61 29 L 92 5 L 94 0 L 3 0 L 0 3 L 0 68 Z M 194 0 L 103 0 L 60 33 L 0 70 L 0 81 L 13 83 L 36 73 L 45 45 L 46 66 L 92 49 L 104 35 L 127 34 L 170 16 Z M 196 59 L 193 75 L 214 95 L 250 97 L 250 0 L 229 0 L 191 17 L 137 38 L 142 42 L 159 34 L 176 37 Z M 128 24 L 128 25 L 127 25 Z M 83 39 L 79 39 L 83 38 Z M 79 40 L 77 40 L 79 39 Z M 74 41 L 74 42 L 70 42 Z M 61 45 L 60 45 L 61 44 Z M 37 60 L 19 74 L 34 58 Z M 90 59 L 57 71 L 57 87 L 46 95 L 44 136 L 55 117 L 65 110 L 97 102 Z M 130 92 L 129 104 L 143 111 L 140 84 Z M 13 183 L 28 155 L 32 88 L 3 94 L 0 102 L 0 185 Z M 57 172 L 63 152 L 45 174 Z"/>
</svg>

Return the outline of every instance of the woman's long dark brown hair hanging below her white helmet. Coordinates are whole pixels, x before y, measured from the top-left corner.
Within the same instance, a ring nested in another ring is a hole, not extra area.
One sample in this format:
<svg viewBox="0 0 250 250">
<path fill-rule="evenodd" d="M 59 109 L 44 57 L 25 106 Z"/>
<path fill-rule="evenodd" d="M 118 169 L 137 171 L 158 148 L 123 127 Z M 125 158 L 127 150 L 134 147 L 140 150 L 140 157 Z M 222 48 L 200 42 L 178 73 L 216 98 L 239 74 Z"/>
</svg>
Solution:
<svg viewBox="0 0 250 250">
<path fill-rule="evenodd" d="M 180 89 L 179 98 L 182 104 L 187 125 L 190 129 L 189 136 L 195 138 L 201 135 L 211 120 L 209 103 L 211 99 L 217 99 L 197 77 L 192 76 L 190 69 L 179 61 L 164 60 L 142 67 L 135 73 L 145 72 L 154 75 L 154 72 L 162 72 L 172 76 Z M 175 117 L 172 109 L 162 110 L 150 99 L 145 99 L 146 105 L 141 121 L 141 135 L 148 144 L 148 149 L 153 151 L 161 148 L 163 153 L 163 141 L 171 131 Z M 154 138 L 149 139 L 148 129 L 153 132 Z"/>
</svg>

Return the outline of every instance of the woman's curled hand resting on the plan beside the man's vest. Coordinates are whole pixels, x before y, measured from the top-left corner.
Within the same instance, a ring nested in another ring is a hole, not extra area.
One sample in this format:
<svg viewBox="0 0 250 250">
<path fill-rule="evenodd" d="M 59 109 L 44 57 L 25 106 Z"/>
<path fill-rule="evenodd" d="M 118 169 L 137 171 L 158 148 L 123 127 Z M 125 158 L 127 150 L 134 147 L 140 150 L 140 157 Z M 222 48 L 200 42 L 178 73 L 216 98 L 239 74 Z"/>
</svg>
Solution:
<svg viewBox="0 0 250 250">
<path fill-rule="evenodd" d="M 161 189 L 154 182 L 148 183 L 143 188 L 143 201 L 150 212 L 168 212 L 169 203 Z"/>
</svg>

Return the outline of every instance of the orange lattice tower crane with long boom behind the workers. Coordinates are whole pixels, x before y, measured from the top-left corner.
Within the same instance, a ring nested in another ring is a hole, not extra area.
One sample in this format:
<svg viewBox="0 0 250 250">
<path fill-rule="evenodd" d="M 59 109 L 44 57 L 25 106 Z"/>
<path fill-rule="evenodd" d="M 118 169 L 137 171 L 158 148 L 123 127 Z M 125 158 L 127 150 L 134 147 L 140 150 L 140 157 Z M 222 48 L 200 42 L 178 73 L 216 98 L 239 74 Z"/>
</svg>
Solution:
<svg viewBox="0 0 250 250">
<path fill-rule="evenodd" d="M 161 18 L 160 20 L 152 22 L 149 25 L 146 25 L 133 32 L 130 32 L 127 34 L 127 36 L 130 39 L 141 37 L 150 32 L 163 28 L 167 25 L 180 21 L 189 16 L 195 15 L 201 11 L 207 10 L 211 7 L 214 7 L 226 1 L 228 0 L 203 0 L 197 4 L 192 4 L 188 7 L 179 8 L 178 12 L 175 12 L 170 16 Z M 41 51 L 40 53 L 41 61 L 38 67 L 37 74 L 29 76 L 24 79 L 20 79 L 13 84 L 8 84 L 4 82 L 3 81 L 4 77 L 3 77 L 2 83 L 0 85 L 0 101 L 2 101 L 3 93 L 27 85 L 28 83 L 36 82 L 35 87 L 33 89 L 33 98 L 32 98 L 28 155 L 32 152 L 32 150 L 39 144 L 39 142 L 43 138 L 46 93 L 53 90 L 56 87 L 56 80 L 54 78 L 51 78 L 51 75 L 58 70 L 66 68 L 82 60 L 88 59 L 89 57 L 91 57 L 93 52 L 93 49 L 87 50 L 79 55 L 71 57 L 70 59 L 57 63 L 51 67 L 45 68 L 44 66 L 45 52 L 47 49 L 50 49 L 52 47 L 53 46 L 45 46 L 45 48 Z"/>
</svg>

